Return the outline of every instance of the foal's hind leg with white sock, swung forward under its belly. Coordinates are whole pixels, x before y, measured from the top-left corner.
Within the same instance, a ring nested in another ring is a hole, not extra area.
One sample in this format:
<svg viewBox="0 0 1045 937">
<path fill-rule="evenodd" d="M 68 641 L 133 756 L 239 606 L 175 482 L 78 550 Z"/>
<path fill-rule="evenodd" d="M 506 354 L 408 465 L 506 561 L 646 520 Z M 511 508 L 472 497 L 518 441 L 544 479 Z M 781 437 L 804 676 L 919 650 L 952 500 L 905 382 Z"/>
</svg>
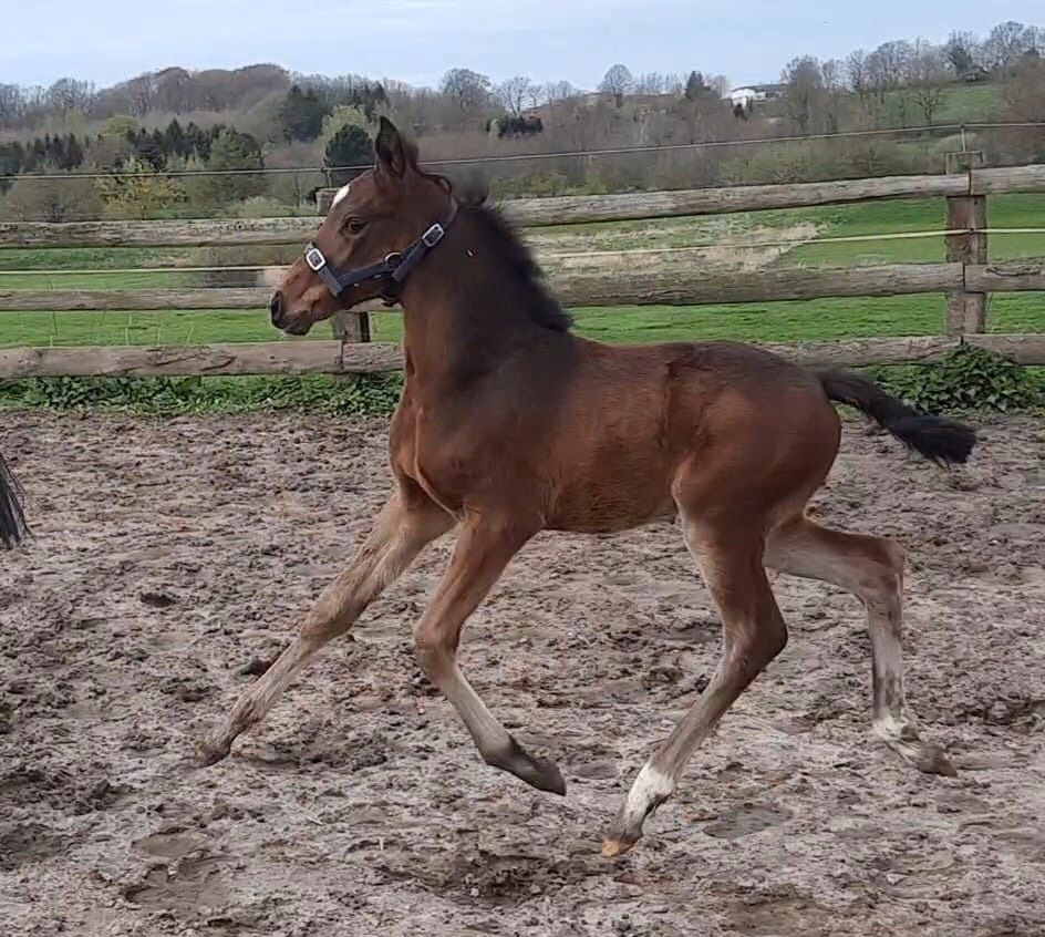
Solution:
<svg viewBox="0 0 1045 937">
<path fill-rule="evenodd" d="M 763 565 L 761 526 L 696 523 L 683 515 L 683 531 L 722 615 L 724 655 L 700 699 L 639 772 L 602 845 L 608 857 L 639 841 L 643 821 L 671 796 L 693 752 L 787 643 Z"/>
</svg>

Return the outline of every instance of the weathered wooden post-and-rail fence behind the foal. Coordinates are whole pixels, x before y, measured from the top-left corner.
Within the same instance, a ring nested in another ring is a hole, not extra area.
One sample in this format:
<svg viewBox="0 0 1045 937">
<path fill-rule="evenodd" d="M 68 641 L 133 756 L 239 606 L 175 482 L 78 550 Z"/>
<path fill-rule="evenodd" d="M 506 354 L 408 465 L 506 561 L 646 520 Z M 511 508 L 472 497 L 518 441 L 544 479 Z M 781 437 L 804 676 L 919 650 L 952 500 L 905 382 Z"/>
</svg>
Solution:
<svg viewBox="0 0 1045 937">
<path fill-rule="evenodd" d="M 702 270 L 558 271 L 550 285 L 565 306 L 700 306 L 857 296 L 943 294 L 939 337 L 879 338 L 770 346 L 805 362 L 872 364 L 939 360 L 973 343 L 1045 364 L 1045 334 L 985 334 L 992 292 L 1045 291 L 1045 265 L 987 262 L 986 198 L 995 193 L 1045 192 L 1045 165 L 983 168 L 975 153 L 949 157 L 949 172 L 800 185 L 761 185 L 690 192 L 563 196 L 504 204 L 525 227 L 633 220 L 835 205 L 870 199 L 946 199 L 946 260 L 872 267 L 773 268 L 743 275 Z M 329 197 L 329 196 L 328 196 Z M 322 203 L 321 203 L 322 204 Z M 0 223 L 3 248 L 206 247 L 303 244 L 314 218 L 257 220 Z M 141 269 L 148 269 L 143 264 Z M 4 311 L 263 309 L 267 289 L 4 290 Z M 772 315 L 768 312 L 767 315 Z M 374 373 L 397 370 L 394 344 L 370 342 L 365 312 L 342 317 L 334 341 L 272 341 L 199 347 L 77 347 L 0 349 L 0 379 L 51 375 L 183 375 Z M 2 327 L 0 327 L 2 334 Z"/>
</svg>

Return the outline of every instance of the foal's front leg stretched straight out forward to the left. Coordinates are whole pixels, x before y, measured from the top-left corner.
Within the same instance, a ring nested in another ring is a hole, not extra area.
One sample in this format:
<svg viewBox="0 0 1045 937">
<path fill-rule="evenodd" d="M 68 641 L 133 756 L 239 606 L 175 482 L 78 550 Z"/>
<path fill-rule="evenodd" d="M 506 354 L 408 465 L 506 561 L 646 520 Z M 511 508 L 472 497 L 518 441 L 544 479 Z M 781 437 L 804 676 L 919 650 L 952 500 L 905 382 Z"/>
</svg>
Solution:
<svg viewBox="0 0 1045 937">
<path fill-rule="evenodd" d="M 214 764 L 232 741 L 260 722 L 298 672 L 330 640 L 343 635 L 363 610 L 432 540 L 454 526 L 454 519 L 414 483 L 404 481 L 377 515 L 373 529 L 352 564 L 322 593 L 301 624 L 298 637 L 245 692 L 221 728 L 197 750 L 203 764 Z"/>
</svg>

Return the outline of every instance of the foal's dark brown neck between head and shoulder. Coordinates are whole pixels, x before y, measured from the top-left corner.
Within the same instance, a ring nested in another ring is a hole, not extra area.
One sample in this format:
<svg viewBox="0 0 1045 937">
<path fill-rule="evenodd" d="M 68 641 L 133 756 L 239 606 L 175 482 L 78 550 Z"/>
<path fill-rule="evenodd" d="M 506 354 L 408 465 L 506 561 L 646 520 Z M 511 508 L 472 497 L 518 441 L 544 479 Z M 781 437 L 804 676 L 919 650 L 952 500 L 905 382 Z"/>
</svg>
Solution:
<svg viewBox="0 0 1045 937">
<path fill-rule="evenodd" d="M 485 243 L 463 209 L 402 294 L 407 380 L 445 390 L 572 344 L 535 315 L 540 285 Z"/>
</svg>

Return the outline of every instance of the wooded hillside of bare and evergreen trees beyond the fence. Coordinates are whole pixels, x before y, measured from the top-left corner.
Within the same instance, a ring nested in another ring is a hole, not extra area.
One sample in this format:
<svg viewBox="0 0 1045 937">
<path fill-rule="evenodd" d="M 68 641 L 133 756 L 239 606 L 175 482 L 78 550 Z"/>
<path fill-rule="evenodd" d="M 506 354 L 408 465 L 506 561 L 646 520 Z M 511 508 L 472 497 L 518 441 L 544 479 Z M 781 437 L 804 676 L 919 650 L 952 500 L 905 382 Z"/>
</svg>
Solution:
<svg viewBox="0 0 1045 937">
<path fill-rule="evenodd" d="M 983 39 L 955 32 L 939 44 L 900 40 L 845 59 L 799 56 L 773 85 L 773 100 L 739 113 L 723 75 L 697 69 L 634 74 L 623 63 L 611 65 L 593 92 L 522 75 L 495 82 L 463 68 L 447 71 L 434 89 L 359 75 L 292 75 L 275 65 L 167 69 L 103 91 L 72 79 L 35 90 L 0 84 L 0 195 L 7 193 L 0 217 L 310 210 L 317 187 L 351 177 L 351 169 L 337 167 L 372 161 L 382 113 L 424 137 L 434 161 L 953 123 L 965 83 L 977 82 L 990 82 L 990 93 L 968 99 L 981 110 L 963 112 L 962 122 L 1038 121 L 1045 120 L 1043 44 L 1042 29 L 1008 22 Z M 941 120 L 944 107 L 951 116 Z M 514 161 L 494 164 L 487 182 L 505 195 L 556 195 L 932 172 L 942 157 L 930 136 L 845 147 L 796 143 L 786 158 L 779 148 L 770 154 L 738 145 L 594 162 Z M 1042 137 L 1013 132 L 983 145 L 994 147 L 989 158 L 999 163 L 1045 161 Z M 944 141 L 940 146 L 954 148 Z M 319 166 L 328 172 L 302 168 Z M 18 181 L 19 174 L 85 171 L 106 178 L 64 188 Z"/>
</svg>

